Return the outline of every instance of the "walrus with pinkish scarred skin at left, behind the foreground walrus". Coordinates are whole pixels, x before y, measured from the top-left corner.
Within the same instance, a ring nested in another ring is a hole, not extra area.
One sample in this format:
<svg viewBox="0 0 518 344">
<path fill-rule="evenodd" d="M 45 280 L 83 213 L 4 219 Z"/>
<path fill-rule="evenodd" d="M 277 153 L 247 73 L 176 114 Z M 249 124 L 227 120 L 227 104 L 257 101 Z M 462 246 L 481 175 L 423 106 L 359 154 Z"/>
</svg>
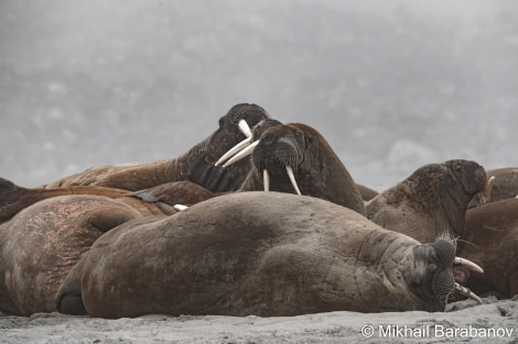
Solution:
<svg viewBox="0 0 518 344">
<path fill-rule="evenodd" d="M 100 235 L 123 222 L 161 213 L 155 204 L 126 200 L 133 206 L 101 196 L 53 197 L 0 225 L 0 311 L 56 311 L 62 281 Z"/>
</svg>

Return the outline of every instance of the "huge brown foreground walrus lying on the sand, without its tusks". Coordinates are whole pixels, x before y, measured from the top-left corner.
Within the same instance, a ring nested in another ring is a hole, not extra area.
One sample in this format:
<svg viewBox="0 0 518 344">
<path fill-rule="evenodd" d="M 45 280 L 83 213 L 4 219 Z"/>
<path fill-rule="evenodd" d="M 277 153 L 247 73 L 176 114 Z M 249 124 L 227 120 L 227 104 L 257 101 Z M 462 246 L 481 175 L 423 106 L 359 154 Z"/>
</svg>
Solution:
<svg viewBox="0 0 518 344">
<path fill-rule="evenodd" d="M 237 192 L 106 233 L 56 302 L 82 292 L 101 318 L 439 311 L 454 255 L 453 241 L 422 245 L 321 199 Z"/>
</svg>

